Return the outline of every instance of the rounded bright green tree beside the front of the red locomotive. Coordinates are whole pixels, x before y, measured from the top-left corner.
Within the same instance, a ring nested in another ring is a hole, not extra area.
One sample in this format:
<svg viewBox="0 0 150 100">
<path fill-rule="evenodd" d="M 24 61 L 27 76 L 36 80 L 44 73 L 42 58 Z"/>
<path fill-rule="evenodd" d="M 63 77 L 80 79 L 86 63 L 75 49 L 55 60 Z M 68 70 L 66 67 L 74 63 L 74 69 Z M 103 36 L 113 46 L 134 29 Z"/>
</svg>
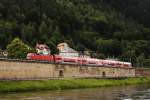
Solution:
<svg viewBox="0 0 150 100">
<path fill-rule="evenodd" d="M 8 57 L 19 59 L 25 59 L 29 52 L 34 52 L 31 47 L 23 43 L 19 38 L 15 38 L 8 44 L 6 51 L 8 52 Z"/>
</svg>

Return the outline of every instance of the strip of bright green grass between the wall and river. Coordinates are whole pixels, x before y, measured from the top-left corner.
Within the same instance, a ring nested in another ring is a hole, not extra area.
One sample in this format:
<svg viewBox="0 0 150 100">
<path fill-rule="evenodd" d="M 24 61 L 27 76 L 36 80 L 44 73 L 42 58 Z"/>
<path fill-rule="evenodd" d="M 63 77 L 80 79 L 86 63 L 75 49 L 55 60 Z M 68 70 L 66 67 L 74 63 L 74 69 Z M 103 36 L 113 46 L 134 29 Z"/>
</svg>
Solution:
<svg viewBox="0 0 150 100">
<path fill-rule="evenodd" d="M 96 88 L 150 83 L 150 78 L 113 79 L 62 79 L 40 81 L 0 81 L 0 92 L 25 92 L 39 90 L 64 90 Z"/>
</svg>

